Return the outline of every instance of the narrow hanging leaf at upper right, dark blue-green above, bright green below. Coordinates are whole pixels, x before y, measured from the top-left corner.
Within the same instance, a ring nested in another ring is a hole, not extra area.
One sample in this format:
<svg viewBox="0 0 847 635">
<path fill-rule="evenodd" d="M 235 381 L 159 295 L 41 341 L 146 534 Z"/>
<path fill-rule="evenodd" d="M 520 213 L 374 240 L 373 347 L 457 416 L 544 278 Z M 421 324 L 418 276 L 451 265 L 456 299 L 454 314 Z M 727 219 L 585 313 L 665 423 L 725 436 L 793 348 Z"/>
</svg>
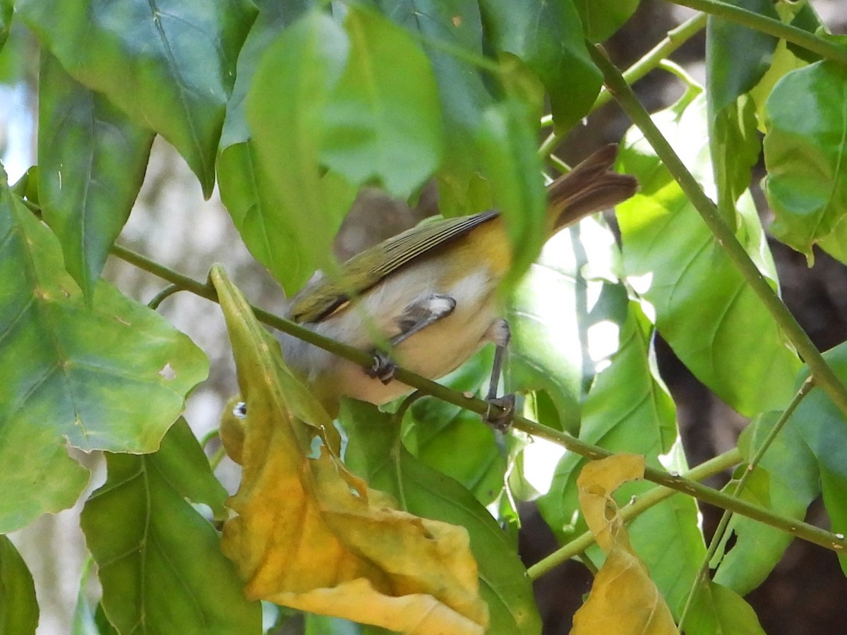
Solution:
<svg viewBox="0 0 847 635">
<path fill-rule="evenodd" d="M 734 0 L 754 13 L 779 19 L 768 0 Z M 778 38 L 761 31 L 709 18 L 706 26 L 706 99 L 709 104 L 709 147 L 715 169 L 717 202 L 733 221 L 734 206 L 750 186 L 750 168 L 761 145 L 756 135 L 755 107 L 745 97 L 770 68 Z"/>
</svg>

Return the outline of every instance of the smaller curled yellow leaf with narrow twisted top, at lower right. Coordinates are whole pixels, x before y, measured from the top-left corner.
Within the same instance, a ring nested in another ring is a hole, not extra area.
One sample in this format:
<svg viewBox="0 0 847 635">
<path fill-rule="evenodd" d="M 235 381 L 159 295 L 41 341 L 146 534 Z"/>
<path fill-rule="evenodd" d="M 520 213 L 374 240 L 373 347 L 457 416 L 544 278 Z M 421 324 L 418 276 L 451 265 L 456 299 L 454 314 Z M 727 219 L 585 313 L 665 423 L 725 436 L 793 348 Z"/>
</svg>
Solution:
<svg viewBox="0 0 847 635">
<path fill-rule="evenodd" d="M 579 505 L 606 561 L 585 604 L 573 616 L 572 635 L 678 635 L 671 611 L 629 544 L 612 493 L 644 476 L 644 457 L 615 455 L 586 464 L 577 479 Z"/>
</svg>

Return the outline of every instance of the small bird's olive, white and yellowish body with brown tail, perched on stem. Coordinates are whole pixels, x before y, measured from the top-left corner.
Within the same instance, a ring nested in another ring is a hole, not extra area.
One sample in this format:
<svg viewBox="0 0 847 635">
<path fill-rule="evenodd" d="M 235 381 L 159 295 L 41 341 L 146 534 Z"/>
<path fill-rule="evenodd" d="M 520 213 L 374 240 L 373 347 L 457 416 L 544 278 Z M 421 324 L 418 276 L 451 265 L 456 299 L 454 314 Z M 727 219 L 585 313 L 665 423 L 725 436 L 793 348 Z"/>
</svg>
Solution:
<svg viewBox="0 0 847 635">
<path fill-rule="evenodd" d="M 548 236 L 637 191 L 633 176 L 611 171 L 616 157 L 617 146 L 605 146 L 548 186 Z M 496 210 L 419 224 L 352 257 L 340 273 L 318 275 L 287 311 L 318 334 L 371 351 L 374 366 L 364 369 L 281 334 L 285 362 L 335 417 L 342 396 L 379 406 L 411 392 L 391 380 L 395 362 L 437 379 L 493 342 L 487 399 L 506 413 L 490 423 L 505 427 L 514 398 L 495 397 L 509 340 L 496 290 L 511 263 Z M 379 342 L 390 345 L 390 357 L 377 349 Z"/>
</svg>

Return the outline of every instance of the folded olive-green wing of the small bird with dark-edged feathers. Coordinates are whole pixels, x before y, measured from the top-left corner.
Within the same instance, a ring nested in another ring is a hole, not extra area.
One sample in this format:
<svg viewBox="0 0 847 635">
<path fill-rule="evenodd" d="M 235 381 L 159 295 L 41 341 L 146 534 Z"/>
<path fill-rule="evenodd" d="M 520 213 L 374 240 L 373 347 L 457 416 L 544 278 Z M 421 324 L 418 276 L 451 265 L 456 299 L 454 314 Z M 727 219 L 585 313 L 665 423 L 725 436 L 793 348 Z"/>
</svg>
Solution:
<svg viewBox="0 0 847 635">
<path fill-rule="evenodd" d="M 338 275 L 322 273 L 313 279 L 294 297 L 288 315 L 295 322 L 319 322 L 415 258 L 496 216 L 495 210 L 489 210 L 472 216 L 424 221 L 383 240 L 345 262 Z"/>
</svg>

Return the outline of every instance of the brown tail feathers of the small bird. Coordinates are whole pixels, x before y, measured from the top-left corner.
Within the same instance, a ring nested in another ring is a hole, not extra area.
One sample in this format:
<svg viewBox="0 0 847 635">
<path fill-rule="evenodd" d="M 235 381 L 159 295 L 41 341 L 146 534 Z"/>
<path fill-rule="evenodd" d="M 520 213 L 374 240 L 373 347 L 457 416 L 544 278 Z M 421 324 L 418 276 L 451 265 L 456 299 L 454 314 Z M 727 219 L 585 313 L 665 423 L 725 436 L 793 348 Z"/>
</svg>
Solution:
<svg viewBox="0 0 847 635">
<path fill-rule="evenodd" d="M 617 146 L 602 147 L 547 187 L 553 232 L 580 218 L 626 201 L 638 191 L 638 180 L 612 172 Z"/>
</svg>

